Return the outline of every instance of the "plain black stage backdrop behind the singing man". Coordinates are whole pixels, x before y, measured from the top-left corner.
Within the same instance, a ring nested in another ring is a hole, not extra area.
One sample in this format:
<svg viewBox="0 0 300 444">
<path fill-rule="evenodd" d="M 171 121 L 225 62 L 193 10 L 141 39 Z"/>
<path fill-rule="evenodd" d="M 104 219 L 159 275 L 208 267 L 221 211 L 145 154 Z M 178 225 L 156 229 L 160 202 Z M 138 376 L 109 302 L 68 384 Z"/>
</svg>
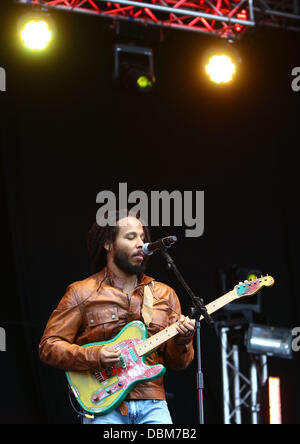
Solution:
<svg viewBox="0 0 300 444">
<path fill-rule="evenodd" d="M 2 2 L 1 2 L 2 3 Z M 300 92 L 297 34 L 256 29 L 240 43 L 236 84 L 215 88 L 198 78 L 199 54 L 211 38 L 167 32 L 155 47 L 157 89 L 150 96 L 111 82 L 112 35 L 104 22 L 55 13 L 49 53 L 25 54 L 14 41 L 17 11 L 1 5 L 2 423 L 76 423 L 62 371 L 39 361 L 45 324 L 67 285 L 89 275 L 86 235 L 102 190 L 204 190 L 205 227 L 155 227 L 153 239 L 179 238 L 172 257 L 196 294 L 221 296 L 220 267 L 255 265 L 275 278 L 262 293 L 271 325 L 300 325 L 299 183 L 296 162 Z M 159 255 L 148 274 L 188 296 Z M 220 343 L 203 324 L 205 420 L 222 422 Z M 177 424 L 197 422 L 196 366 L 167 372 Z M 299 354 L 269 359 L 282 381 L 283 421 L 299 423 Z"/>
</svg>

